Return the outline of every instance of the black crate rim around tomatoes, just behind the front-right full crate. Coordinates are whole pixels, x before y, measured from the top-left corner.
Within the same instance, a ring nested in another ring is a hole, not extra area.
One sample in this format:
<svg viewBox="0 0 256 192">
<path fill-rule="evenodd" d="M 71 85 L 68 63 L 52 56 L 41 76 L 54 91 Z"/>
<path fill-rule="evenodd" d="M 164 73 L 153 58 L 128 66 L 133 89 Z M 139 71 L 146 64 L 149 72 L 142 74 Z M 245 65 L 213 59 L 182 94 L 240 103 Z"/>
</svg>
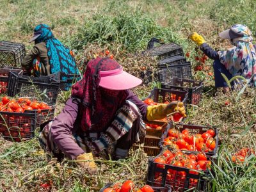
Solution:
<svg viewBox="0 0 256 192">
<path fill-rule="evenodd" d="M 203 134 L 204 132 L 208 131 L 209 129 L 213 129 L 215 131 L 214 138 L 215 138 L 216 147 L 214 148 L 214 150 L 212 152 L 205 152 L 205 154 L 209 157 L 214 157 L 216 155 L 216 152 L 218 150 L 219 137 L 218 137 L 218 129 L 214 126 L 210 127 L 210 126 L 205 126 L 205 125 L 191 125 L 191 124 L 175 124 L 175 125 L 173 125 L 173 124 L 169 124 L 166 127 L 166 130 L 164 131 L 162 138 L 160 140 L 160 143 L 159 143 L 160 148 L 163 148 L 163 141 L 164 141 L 164 138 L 168 137 L 168 131 L 173 128 L 179 130 L 179 132 L 182 132 L 184 129 L 188 129 L 190 134 L 196 134 L 196 133 Z"/>
</svg>

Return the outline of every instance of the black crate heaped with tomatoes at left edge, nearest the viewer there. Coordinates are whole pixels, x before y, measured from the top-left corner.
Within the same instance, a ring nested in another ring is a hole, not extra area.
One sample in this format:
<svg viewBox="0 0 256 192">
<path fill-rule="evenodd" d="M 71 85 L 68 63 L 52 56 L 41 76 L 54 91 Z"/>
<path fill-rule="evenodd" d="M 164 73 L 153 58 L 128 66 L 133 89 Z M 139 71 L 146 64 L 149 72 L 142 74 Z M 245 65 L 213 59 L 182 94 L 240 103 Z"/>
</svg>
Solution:
<svg viewBox="0 0 256 192">
<path fill-rule="evenodd" d="M 54 107 L 29 98 L 10 99 L 0 102 L 0 134 L 12 141 L 29 140 L 35 129 L 45 120 L 54 117 Z"/>
</svg>

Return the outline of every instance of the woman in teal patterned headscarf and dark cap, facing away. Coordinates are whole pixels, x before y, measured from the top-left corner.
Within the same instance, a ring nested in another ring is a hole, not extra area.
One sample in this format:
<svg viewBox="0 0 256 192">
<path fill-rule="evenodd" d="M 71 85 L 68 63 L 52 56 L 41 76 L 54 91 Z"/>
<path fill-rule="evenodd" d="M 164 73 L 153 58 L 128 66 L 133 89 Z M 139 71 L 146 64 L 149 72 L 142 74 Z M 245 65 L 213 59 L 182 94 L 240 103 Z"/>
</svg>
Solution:
<svg viewBox="0 0 256 192">
<path fill-rule="evenodd" d="M 72 51 L 54 37 L 51 28 L 40 24 L 34 29 L 34 36 L 30 42 L 35 46 L 22 60 L 22 68 L 36 77 L 49 76 L 56 72 L 65 74 L 79 74 Z"/>
</svg>

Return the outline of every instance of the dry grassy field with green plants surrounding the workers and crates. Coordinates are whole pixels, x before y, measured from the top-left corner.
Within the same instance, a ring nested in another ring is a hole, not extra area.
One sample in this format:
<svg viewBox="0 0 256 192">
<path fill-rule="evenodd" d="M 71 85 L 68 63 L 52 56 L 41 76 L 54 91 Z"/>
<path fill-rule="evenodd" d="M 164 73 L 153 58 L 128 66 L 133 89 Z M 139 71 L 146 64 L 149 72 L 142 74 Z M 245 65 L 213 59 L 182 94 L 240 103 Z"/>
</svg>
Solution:
<svg viewBox="0 0 256 192">
<path fill-rule="evenodd" d="M 207 191 L 256 191 L 255 156 L 246 156 L 243 163 L 232 162 L 241 148 L 256 149 L 256 90 L 246 87 L 227 95 L 216 90 L 212 60 L 205 60 L 202 69 L 196 70 L 200 54 L 188 38 L 197 31 L 214 49 L 222 50 L 230 44 L 220 40 L 218 33 L 233 24 L 245 24 L 256 34 L 256 1 L 0 0 L 0 4 L 0 40 L 23 43 L 29 51 L 33 28 L 48 24 L 56 38 L 72 49 L 82 72 L 89 60 L 109 50 L 124 70 L 140 77 L 143 70 L 156 70 L 156 58 L 140 55 L 152 37 L 181 45 L 191 61 L 194 79 L 205 84 L 200 103 L 187 106 L 185 122 L 214 125 L 220 136 L 218 161 L 211 164 L 214 174 L 205 178 Z M 157 79 L 153 80 L 134 88 L 140 99 L 157 86 Z M 56 115 L 68 97 L 70 91 L 60 93 Z M 96 159 L 96 175 L 68 159 L 47 161 L 37 138 L 21 143 L 0 138 L 0 146 L 0 191 L 99 191 L 109 182 L 131 179 L 138 186 L 147 182 L 148 157 L 143 146 L 131 150 L 122 161 Z"/>
</svg>

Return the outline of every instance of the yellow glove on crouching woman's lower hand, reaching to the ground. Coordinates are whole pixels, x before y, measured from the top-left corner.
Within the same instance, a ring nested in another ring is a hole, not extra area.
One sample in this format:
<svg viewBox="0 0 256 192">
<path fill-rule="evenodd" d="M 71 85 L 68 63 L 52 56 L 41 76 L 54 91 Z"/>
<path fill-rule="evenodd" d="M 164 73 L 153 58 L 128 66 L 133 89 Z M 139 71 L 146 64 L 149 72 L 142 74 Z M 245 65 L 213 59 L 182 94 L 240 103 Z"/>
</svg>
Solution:
<svg viewBox="0 0 256 192">
<path fill-rule="evenodd" d="M 79 166 L 85 168 L 86 170 L 88 170 L 88 172 L 92 174 L 97 173 L 97 166 L 93 161 L 92 153 L 81 154 L 76 157 L 76 161 L 76 163 L 79 164 Z"/>
</svg>

